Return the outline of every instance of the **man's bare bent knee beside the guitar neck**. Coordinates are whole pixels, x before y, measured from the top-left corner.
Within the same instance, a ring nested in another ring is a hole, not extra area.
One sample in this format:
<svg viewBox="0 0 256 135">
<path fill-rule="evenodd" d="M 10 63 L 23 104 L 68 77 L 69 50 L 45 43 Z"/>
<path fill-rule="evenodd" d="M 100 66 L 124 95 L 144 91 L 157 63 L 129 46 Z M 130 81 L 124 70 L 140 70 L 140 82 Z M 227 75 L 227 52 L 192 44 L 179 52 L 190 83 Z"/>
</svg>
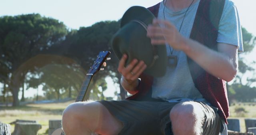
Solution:
<svg viewBox="0 0 256 135">
<path fill-rule="evenodd" d="M 62 127 L 66 135 L 117 135 L 123 125 L 99 102 L 76 102 L 63 112 Z"/>
</svg>

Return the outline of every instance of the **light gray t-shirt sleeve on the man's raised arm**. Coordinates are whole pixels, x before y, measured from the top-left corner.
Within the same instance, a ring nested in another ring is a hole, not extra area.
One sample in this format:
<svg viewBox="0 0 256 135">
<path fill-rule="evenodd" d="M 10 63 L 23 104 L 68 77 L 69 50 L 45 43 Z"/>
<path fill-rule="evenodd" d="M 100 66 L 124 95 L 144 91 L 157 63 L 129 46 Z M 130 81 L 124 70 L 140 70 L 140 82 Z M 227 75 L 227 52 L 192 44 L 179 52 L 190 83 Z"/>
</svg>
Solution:
<svg viewBox="0 0 256 135">
<path fill-rule="evenodd" d="M 238 46 L 243 52 L 242 30 L 237 8 L 234 2 L 226 0 L 220 18 L 217 42 Z"/>
</svg>

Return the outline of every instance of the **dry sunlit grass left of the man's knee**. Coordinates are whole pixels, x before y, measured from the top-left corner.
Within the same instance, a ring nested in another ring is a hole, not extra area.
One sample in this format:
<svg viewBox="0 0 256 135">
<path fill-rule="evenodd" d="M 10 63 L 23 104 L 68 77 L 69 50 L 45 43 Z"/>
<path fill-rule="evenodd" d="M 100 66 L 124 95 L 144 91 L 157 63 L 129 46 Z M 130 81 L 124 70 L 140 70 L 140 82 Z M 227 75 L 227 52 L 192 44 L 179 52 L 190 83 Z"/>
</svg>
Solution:
<svg viewBox="0 0 256 135">
<path fill-rule="evenodd" d="M 38 135 L 48 135 L 49 120 L 61 119 L 62 111 L 74 101 L 65 103 L 45 103 L 45 104 L 28 104 L 20 107 L 1 107 L 0 121 L 11 123 L 16 119 L 36 120 L 42 125 Z M 11 132 L 14 131 L 14 125 L 11 125 Z"/>
</svg>

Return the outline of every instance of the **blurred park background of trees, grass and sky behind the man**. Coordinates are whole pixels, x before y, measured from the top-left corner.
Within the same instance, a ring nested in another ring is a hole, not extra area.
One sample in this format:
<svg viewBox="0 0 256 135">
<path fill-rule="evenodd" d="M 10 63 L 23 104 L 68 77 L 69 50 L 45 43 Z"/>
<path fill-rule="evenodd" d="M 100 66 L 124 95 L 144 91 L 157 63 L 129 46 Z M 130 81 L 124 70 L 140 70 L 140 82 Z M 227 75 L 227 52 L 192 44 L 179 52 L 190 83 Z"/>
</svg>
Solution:
<svg viewBox="0 0 256 135">
<path fill-rule="evenodd" d="M 36 120 L 48 135 L 48 121 L 61 119 L 74 102 L 100 51 L 110 61 L 92 78 L 86 100 L 121 100 L 118 59 L 110 46 L 130 6 L 161 0 L 0 0 L 0 121 Z M 239 72 L 227 83 L 231 118 L 256 117 L 256 5 L 233 0 L 242 24 L 244 52 Z M 246 131 L 245 124 L 241 130 Z M 14 125 L 11 128 L 14 131 Z"/>
</svg>

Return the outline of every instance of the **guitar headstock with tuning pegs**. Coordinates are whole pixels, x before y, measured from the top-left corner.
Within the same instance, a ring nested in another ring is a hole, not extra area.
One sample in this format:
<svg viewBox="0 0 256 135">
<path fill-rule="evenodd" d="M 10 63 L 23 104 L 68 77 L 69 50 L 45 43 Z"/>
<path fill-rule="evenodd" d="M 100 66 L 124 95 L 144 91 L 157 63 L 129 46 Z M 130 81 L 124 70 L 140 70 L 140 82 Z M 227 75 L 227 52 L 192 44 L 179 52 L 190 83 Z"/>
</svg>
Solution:
<svg viewBox="0 0 256 135">
<path fill-rule="evenodd" d="M 93 65 L 90 67 L 90 70 L 86 75 L 94 75 L 100 70 L 100 67 L 103 65 L 105 60 L 108 60 L 110 52 L 109 51 L 102 51 L 98 54 L 97 59 L 94 61 Z"/>
</svg>

